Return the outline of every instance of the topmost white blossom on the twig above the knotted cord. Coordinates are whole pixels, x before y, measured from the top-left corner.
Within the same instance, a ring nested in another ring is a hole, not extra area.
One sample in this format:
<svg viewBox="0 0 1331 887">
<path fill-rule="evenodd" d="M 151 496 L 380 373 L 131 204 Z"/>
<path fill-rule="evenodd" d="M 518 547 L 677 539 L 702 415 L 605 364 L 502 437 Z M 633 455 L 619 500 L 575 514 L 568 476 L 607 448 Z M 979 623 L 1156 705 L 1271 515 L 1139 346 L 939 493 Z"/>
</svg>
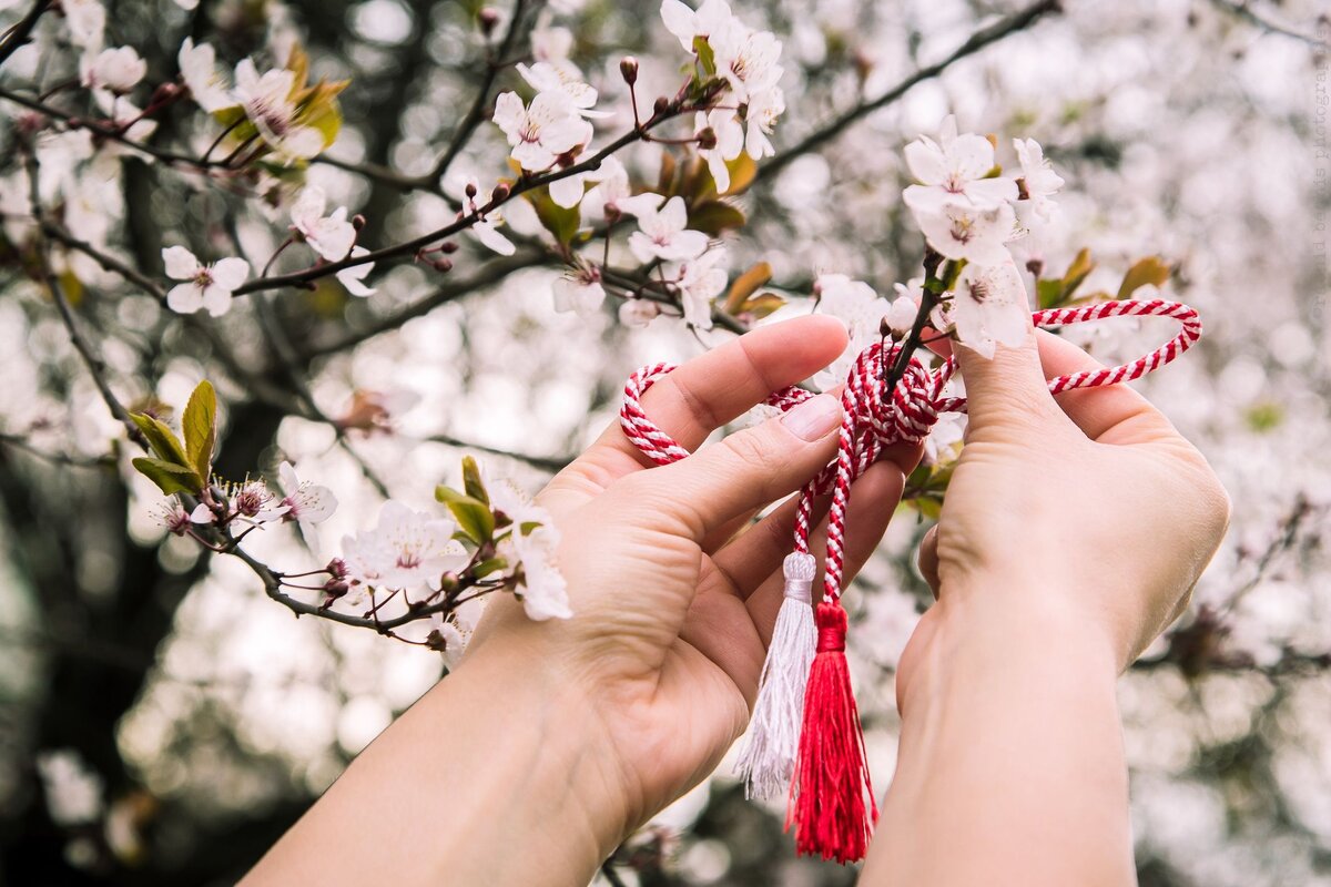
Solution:
<svg viewBox="0 0 1331 887">
<path fill-rule="evenodd" d="M 1017 199 L 1017 182 L 988 178 L 994 168 L 994 146 L 984 136 L 957 134 L 957 118 L 942 121 L 938 141 L 921 136 L 905 148 L 906 165 L 920 185 L 910 185 L 901 198 L 921 213 L 940 213 L 946 203 L 993 207 Z"/>
</svg>

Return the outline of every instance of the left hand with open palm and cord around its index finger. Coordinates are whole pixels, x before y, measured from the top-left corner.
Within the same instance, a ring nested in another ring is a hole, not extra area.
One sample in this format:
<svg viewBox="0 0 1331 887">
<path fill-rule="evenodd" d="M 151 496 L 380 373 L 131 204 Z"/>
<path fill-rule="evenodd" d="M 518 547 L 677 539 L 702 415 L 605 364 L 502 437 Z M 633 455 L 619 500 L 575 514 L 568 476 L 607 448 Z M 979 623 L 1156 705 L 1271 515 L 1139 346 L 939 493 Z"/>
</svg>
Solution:
<svg viewBox="0 0 1331 887">
<path fill-rule="evenodd" d="M 643 407 L 695 448 L 845 343 L 835 319 L 777 323 L 679 367 Z M 616 423 L 538 496 L 563 533 L 574 617 L 531 622 L 512 601 L 492 602 L 457 677 L 474 661 L 503 660 L 574 689 L 578 723 L 550 741 L 590 746 L 612 763 L 582 803 L 600 818 L 600 842 L 618 842 L 703 779 L 744 730 L 781 604 L 796 503 L 736 531 L 833 459 L 840 415 L 837 399 L 823 395 L 666 467 L 652 467 Z M 848 576 L 881 539 L 917 459 L 918 447 L 889 449 L 856 483 Z M 825 503 L 817 507 L 821 516 Z"/>
</svg>

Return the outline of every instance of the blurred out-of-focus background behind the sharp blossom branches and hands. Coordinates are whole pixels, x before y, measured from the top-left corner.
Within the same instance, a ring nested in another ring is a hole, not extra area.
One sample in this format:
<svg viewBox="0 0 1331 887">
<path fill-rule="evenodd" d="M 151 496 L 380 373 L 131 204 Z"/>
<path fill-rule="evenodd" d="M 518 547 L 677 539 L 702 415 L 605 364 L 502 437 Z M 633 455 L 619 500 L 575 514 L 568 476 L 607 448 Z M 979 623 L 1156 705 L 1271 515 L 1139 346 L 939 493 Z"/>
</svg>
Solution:
<svg viewBox="0 0 1331 887">
<path fill-rule="evenodd" d="M 0 25 L 28 5 L 0 1 Z M 150 82 L 176 74 L 186 36 L 232 64 L 299 41 L 318 74 L 351 80 L 327 157 L 405 176 L 427 172 L 447 144 L 483 57 L 478 7 L 465 1 L 106 7 L 108 45 L 137 48 Z M 658 4 L 550 7 L 554 25 L 576 36 L 572 57 L 600 105 L 619 114 L 598 132 L 631 120 L 624 53 L 642 60 L 648 102 L 672 82 L 683 57 Z M 1020 21 L 1018 3 L 737 0 L 747 24 L 785 43 L 788 110 L 773 137 L 779 162 L 739 198 L 749 222 L 727 235 L 732 267 L 769 262 L 791 314 L 808 311 L 796 297 L 821 271 L 888 295 L 917 277 L 901 148 L 948 113 L 1001 144 L 1045 145 L 1067 181 L 1065 225 L 1040 257 L 1053 274 L 1082 247 L 1095 265 L 1086 291 L 1114 291 L 1143 257 L 1170 266 L 1162 294 L 1199 309 L 1206 335 L 1141 388 L 1211 460 L 1235 513 L 1190 612 L 1121 682 L 1141 883 L 1331 884 L 1328 9 L 1318 0 L 1037 7 Z M 990 33 L 1005 21 L 1016 24 Z M 63 27 L 48 16 L 39 41 Z M 976 52 L 938 65 L 977 33 L 988 36 Z M 921 69 L 836 137 L 785 154 Z M 15 88 L 59 78 L 35 53 L 0 70 Z M 498 86 L 510 80 L 502 73 Z M 154 142 L 206 146 L 216 129 L 201 117 L 166 114 Z M 11 176 L 19 108 L 0 102 L 0 172 Z M 659 153 L 642 146 L 626 162 L 651 181 Z M 483 124 L 455 172 L 492 182 L 506 154 Z M 439 194 L 333 164 L 313 165 L 307 178 L 366 217 L 361 242 L 371 246 L 453 215 Z M 109 247 L 156 279 L 164 243 L 202 254 L 232 235 L 265 257 L 285 235 L 285 213 L 274 222 L 160 164 L 117 161 L 104 185 L 92 211 Z M 370 632 L 294 620 L 244 564 L 165 533 L 160 493 L 128 469 L 126 448 L 113 443 L 122 430 L 15 259 L 16 219 L 4 222 L 0 883 L 230 883 L 438 680 L 442 662 Z M 539 230 L 520 213 L 510 225 L 532 238 Z M 84 257 L 63 261 L 122 400 L 178 408 L 206 376 L 224 404 L 220 471 L 272 473 L 286 457 L 337 492 L 322 551 L 290 529 L 246 540 L 285 570 L 326 561 L 343 533 L 367 525 L 385 489 L 426 505 L 462 452 L 484 456 L 491 476 L 539 488 L 614 419 L 632 368 L 729 335 L 699 339 L 668 319 L 630 331 L 610 307 L 556 314 L 559 267 L 548 254 L 496 259 L 465 241 L 442 281 L 402 263 L 377 270 L 367 301 L 333 285 L 277 293 L 270 307 L 294 343 L 282 352 L 254 332 L 250 305 L 186 320 Z M 409 319 L 411 306 L 421 309 Z M 1114 322 L 1075 335 L 1126 359 L 1173 328 Z M 913 567 L 928 523 L 902 509 L 847 598 L 880 790 L 894 761 L 893 668 L 929 601 Z M 729 766 L 626 844 L 604 883 L 853 882 L 853 868 L 796 859 L 781 810 L 744 801 Z"/>
</svg>

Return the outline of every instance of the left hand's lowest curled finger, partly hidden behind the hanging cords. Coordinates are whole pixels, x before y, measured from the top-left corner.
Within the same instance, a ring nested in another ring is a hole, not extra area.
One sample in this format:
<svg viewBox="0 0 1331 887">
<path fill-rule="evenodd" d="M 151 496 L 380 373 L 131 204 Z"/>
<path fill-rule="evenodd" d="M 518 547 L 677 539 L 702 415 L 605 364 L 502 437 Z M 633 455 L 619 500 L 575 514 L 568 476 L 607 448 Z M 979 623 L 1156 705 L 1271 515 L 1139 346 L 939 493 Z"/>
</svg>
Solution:
<svg viewBox="0 0 1331 887">
<path fill-rule="evenodd" d="M 882 533 L 888 529 L 892 515 L 896 513 L 901 501 L 901 491 L 905 485 L 905 475 L 893 463 L 874 463 L 852 487 L 851 505 L 847 508 L 845 519 L 845 573 L 843 586 L 860 573 L 864 564 L 873 556 Z M 821 567 L 823 555 L 827 549 L 828 520 L 824 517 L 809 536 L 809 549 L 817 556 Z M 787 552 L 789 553 L 789 552 Z M 813 584 L 815 600 L 819 600 L 823 590 L 823 574 Z M 776 613 L 781 608 L 785 593 L 785 577 L 780 565 L 752 594 L 748 605 L 749 616 L 763 638 L 763 646 L 772 640 L 772 626 L 776 622 Z"/>
</svg>

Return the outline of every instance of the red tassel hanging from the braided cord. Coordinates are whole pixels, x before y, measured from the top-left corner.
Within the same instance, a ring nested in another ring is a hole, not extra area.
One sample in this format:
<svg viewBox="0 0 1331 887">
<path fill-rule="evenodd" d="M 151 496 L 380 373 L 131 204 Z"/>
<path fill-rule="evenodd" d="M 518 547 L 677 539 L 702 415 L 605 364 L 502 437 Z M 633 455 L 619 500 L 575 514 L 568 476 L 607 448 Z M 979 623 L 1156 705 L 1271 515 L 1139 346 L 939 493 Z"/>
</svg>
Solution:
<svg viewBox="0 0 1331 887">
<path fill-rule="evenodd" d="M 817 854 L 844 864 L 864 859 L 878 805 L 851 693 L 847 617 L 840 601 L 819 604 L 817 625 L 819 652 L 804 692 L 804 729 L 785 827 L 793 823 L 801 856 Z"/>
</svg>

